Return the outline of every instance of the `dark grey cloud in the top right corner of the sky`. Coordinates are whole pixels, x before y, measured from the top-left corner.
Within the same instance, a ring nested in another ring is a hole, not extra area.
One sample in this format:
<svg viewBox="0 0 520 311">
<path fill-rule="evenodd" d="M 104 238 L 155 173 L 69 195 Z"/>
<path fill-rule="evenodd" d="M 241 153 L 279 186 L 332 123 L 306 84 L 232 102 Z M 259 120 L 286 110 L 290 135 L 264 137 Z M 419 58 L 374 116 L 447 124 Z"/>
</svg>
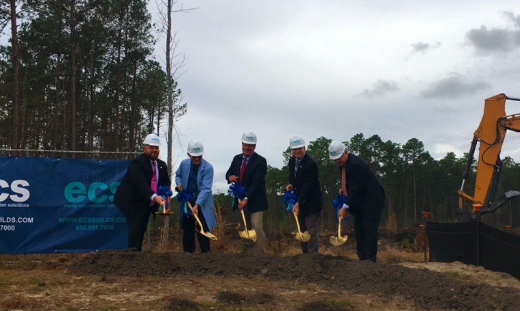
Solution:
<svg viewBox="0 0 520 311">
<path fill-rule="evenodd" d="M 515 16 L 512 12 L 504 12 L 504 16 L 512 21 L 513 29 L 490 29 L 481 25 L 478 29 L 467 31 L 466 38 L 477 53 L 506 53 L 520 46 L 520 16 Z"/>
</svg>

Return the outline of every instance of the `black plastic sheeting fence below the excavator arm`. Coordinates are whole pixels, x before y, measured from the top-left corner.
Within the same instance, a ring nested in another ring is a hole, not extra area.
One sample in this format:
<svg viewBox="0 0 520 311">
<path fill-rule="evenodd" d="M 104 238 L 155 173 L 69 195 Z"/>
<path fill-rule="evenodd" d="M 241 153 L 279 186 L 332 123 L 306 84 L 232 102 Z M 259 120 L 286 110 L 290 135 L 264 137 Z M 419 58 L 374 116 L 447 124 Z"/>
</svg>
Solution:
<svg viewBox="0 0 520 311">
<path fill-rule="evenodd" d="M 477 221 L 458 224 L 427 222 L 426 233 L 431 262 L 460 261 L 506 272 L 520 279 L 520 236 Z"/>
</svg>

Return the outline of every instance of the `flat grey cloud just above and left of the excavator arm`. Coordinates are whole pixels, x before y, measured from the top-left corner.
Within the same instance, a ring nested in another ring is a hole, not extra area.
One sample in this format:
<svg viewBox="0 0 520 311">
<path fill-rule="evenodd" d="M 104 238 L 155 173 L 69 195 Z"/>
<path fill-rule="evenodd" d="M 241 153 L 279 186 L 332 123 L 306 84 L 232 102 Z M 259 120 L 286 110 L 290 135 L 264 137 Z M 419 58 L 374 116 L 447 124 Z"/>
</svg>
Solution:
<svg viewBox="0 0 520 311">
<path fill-rule="evenodd" d="M 470 81 L 466 77 L 454 73 L 450 77 L 433 82 L 430 87 L 421 92 L 424 98 L 454 98 L 472 94 L 475 91 L 490 87 L 483 81 Z"/>
</svg>

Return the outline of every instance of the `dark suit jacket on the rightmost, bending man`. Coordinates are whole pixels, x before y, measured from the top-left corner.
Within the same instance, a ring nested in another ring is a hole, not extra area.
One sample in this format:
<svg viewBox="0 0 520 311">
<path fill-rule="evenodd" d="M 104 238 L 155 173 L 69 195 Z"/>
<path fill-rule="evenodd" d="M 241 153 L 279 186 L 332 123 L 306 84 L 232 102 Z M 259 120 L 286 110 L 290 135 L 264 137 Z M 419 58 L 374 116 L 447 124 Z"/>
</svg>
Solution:
<svg viewBox="0 0 520 311">
<path fill-rule="evenodd" d="M 339 172 L 341 180 L 341 167 Z M 345 204 L 349 206 L 349 213 L 365 218 L 372 218 L 381 213 L 384 208 L 384 189 L 365 161 L 349 153 L 345 163 L 345 179 Z"/>
</svg>

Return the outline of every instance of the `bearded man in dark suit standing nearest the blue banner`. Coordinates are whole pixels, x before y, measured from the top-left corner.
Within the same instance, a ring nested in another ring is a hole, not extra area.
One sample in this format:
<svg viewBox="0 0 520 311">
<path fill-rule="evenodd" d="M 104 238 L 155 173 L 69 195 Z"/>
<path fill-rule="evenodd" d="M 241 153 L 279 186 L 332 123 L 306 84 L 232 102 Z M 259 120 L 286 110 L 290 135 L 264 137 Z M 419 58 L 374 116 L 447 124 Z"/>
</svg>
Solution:
<svg viewBox="0 0 520 311">
<path fill-rule="evenodd" d="M 114 195 L 114 205 L 128 224 L 128 248 L 138 251 L 143 246 L 150 214 L 164 202 L 164 198 L 156 194 L 157 189 L 171 185 L 168 167 L 158 159 L 160 144 L 157 135 L 147 135 L 143 154 L 132 160 Z"/>
</svg>

